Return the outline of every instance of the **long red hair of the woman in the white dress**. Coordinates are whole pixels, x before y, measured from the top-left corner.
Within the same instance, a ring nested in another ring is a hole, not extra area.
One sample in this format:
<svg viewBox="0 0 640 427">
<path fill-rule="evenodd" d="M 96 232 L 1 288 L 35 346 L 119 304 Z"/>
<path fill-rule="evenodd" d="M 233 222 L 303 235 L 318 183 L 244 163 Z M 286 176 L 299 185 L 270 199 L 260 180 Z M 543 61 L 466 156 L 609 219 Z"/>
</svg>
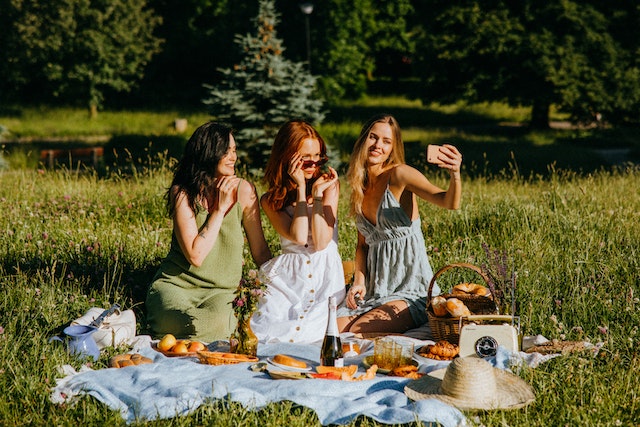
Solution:
<svg viewBox="0 0 640 427">
<path fill-rule="evenodd" d="M 318 141 L 320 156 L 325 157 L 327 145 L 318 131 L 304 120 L 290 120 L 285 123 L 273 141 L 271 155 L 264 170 L 264 181 L 268 186 L 265 193 L 267 203 L 276 211 L 293 204 L 295 201 L 297 187 L 288 172 L 289 162 L 293 155 L 300 150 L 302 141 L 309 138 Z M 317 168 L 307 185 L 307 195 L 311 192 L 313 181 L 321 173 L 320 168 Z"/>
</svg>

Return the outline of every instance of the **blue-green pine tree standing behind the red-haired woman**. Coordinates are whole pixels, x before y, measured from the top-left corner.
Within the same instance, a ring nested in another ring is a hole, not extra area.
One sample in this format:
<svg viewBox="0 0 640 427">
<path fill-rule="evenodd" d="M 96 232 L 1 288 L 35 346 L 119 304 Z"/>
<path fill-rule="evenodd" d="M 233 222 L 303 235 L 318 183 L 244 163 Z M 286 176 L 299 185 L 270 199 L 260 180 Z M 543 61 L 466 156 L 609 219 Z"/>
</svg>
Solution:
<svg viewBox="0 0 640 427">
<path fill-rule="evenodd" d="M 216 120 L 234 127 L 238 154 L 252 171 L 263 167 L 278 129 L 301 118 L 316 125 L 324 119 L 323 101 L 316 95 L 316 77 L 302 62 L 292 62 L 277 37 L 279 14 L 273 0 L 260 0 L 256 35 L 236 35 L 244 55 L 240 64 L 220 69 L 219 85 L 205 85 L 203 102 Z"/>
</svg>

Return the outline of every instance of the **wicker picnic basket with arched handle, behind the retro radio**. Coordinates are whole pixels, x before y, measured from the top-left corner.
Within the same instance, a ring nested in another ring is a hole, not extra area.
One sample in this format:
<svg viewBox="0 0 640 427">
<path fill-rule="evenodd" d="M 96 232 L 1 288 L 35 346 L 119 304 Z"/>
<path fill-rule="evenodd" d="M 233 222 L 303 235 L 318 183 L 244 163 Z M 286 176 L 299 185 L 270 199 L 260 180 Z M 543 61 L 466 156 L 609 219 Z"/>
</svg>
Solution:
<svg viewBox="0 0 640 427">
<path fill-rule="evenodd" d="M 436 279 L 442 275 L 445 271 L 454 268 L 466 268 L 476 272 L 482 280 L 485 282 L 485 286 L 489 286 L 489 277 L 473 264 L 468 263 L 454 263 L 448 264 L 438 270 L 429 283 L 429 292 L 427 294 L 427 317 L 429 319 L 429 327 L 431 333 L 436 341 L 445 340 L 452 344 L 458 344 L 460 340 L 460 318 L 459 317 L 438 317 L 433 313 L 433 307 L 431 306 L 431 298 L 433 296 L 433 285 L 436 283 Z M 455 297 L 462 301 L 471 314 L 497 314 L 498 306 L 497 301 L 494 300 L 493 295 L 488 297 L 480 295 L 452 295 L 450 293 L 440 294 L 444 298 Z"/>
</svg>

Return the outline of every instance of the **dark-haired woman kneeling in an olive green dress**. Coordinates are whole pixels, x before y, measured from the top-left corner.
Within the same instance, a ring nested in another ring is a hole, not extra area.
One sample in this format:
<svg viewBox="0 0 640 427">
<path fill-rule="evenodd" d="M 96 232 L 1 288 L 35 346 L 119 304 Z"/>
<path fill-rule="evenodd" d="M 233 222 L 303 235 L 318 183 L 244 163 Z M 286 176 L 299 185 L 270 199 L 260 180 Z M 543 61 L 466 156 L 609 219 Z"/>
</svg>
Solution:
<svg viewBox="0 0 640 427">
<path fill-rule="evenodd" d="M 147 294 L 155 337 L 210 342 L 235 329 L 231 301 L 242 275 L 244 234 L 261 265 L 271 258 L 253 184 L 235 175 L 231 128 L 200 126 L 184 149 L 166 193 L 173 236 Z"/>
</svg>

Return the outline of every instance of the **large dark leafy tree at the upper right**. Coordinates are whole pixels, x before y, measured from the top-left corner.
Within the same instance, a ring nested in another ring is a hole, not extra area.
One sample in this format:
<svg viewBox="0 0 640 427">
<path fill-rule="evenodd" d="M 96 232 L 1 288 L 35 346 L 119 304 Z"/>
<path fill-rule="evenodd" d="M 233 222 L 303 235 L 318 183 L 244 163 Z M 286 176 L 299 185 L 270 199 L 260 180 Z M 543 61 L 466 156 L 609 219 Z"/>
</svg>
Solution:
<svg viewBox="0 0 640 427">
<path fill-rule="evenodd" d="M 628 61 L 605 14 L 571 0 L 415 2 L 427 101 L 507 101 L 547 127 L 551 105 L 575 121 L 612 111 Z M 637 69 L 636 69 L 637 72 Z"/>
</svg>

